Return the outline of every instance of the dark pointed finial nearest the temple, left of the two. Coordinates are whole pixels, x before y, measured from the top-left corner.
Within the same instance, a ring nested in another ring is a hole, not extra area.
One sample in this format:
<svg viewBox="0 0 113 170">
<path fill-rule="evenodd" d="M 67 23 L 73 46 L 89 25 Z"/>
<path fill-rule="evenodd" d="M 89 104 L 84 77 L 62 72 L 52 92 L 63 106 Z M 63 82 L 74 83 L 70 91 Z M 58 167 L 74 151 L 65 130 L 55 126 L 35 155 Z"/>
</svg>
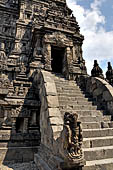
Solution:
<svg viewBox="0 0 113 170">
<path fill-rule="evenodd" d="M 97 60 L 94 60 L 94 66 L 93 66 L 93 69 L 91 70 L 91 76 L 92 77 L 104 78 L 103 71 L 99 67 L 99 64 L 98 64 Z"/>
</svg>

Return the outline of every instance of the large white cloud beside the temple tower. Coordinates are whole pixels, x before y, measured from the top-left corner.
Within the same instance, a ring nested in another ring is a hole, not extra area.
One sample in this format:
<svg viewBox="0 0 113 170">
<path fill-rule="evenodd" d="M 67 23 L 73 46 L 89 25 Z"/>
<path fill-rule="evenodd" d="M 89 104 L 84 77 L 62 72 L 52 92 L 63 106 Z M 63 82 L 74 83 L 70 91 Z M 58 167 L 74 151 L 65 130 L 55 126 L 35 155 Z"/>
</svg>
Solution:
<svg viewBox="0 0 113 170">
<path fill-rule="evenodd" d="M 102 3 L 106 0 L 94 0 L 89 9 L 77 4 L 77 0 L 67 0 L 68 6 L 73 10 L 85 40 L 83 44 L 83 57 L 86 60 L 88 73 L 93 67 L 93 60 L 103 67 L 103 63 L 113 63 L 113 31 L 105 30 L 106 18 L 101 13 Z M 107 1 L 106 1 L 107 2 Z M 104 62 L 105 61 L 105 62 Z M 103 67 L 105 72 L 105 67 Z"/>
</svg>

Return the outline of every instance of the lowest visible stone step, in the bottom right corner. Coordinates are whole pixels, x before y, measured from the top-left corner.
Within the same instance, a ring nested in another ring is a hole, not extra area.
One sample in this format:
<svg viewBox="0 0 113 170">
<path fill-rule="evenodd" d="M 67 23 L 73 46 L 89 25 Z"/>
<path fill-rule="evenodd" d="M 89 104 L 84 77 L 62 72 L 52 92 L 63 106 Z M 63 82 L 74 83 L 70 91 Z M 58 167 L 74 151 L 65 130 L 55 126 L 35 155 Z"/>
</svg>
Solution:
<svg viewBox="0 0 113 170">
<path fill-rule="evenodd" d="M 113 158 L 87 161 L 82 170 L 112 170 Z"/>
</svg>

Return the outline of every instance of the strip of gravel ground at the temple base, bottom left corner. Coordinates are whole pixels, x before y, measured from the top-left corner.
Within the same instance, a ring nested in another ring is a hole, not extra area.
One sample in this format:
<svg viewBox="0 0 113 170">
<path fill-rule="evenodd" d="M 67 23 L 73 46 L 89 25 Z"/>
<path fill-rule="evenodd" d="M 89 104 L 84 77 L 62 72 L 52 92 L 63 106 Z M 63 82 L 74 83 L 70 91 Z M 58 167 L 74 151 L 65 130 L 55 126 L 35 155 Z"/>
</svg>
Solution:
<svg viewBox="0 0 113 170">
<path fill-rule="evenodd" d="M 38 170 L 34 162 L 0 165 L 0 170 Z"/>
</svg>

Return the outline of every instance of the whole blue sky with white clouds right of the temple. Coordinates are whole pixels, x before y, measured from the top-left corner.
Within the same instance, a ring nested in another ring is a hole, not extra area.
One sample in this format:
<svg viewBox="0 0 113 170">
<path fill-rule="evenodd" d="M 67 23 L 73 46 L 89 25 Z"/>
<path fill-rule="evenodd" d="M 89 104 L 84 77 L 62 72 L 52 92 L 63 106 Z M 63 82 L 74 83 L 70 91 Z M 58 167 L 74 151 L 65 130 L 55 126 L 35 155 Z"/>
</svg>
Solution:
<svg viewBox="0 0 113 170">
<path fill-rule="evenodd" d="M 67 0 L 84 35 L 83 58 L 88 74 L 97 59 L 103 72 L 113 66 L 113 0 Z"/>
</svg>

